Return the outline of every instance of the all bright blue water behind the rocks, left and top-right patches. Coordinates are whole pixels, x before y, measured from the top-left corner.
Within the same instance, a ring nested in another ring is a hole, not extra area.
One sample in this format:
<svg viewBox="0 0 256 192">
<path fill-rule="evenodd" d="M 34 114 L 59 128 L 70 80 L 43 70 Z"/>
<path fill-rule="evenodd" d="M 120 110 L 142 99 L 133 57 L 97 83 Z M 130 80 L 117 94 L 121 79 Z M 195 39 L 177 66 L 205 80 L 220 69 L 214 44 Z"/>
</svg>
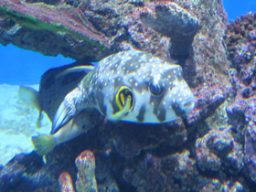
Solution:
<svg viewBox="0 0 256 192">
<path fill-rule="evenodd" d="M 229 21 L 250 11 L 256 12 L 256 0 L 223 1 Z M 0 84 L 36 84 L 47 69 L 69 64 L 72 61 L 62 56 L 46 57 L 12 45 L 6 47 L 0 45 Z"/>
</svg>

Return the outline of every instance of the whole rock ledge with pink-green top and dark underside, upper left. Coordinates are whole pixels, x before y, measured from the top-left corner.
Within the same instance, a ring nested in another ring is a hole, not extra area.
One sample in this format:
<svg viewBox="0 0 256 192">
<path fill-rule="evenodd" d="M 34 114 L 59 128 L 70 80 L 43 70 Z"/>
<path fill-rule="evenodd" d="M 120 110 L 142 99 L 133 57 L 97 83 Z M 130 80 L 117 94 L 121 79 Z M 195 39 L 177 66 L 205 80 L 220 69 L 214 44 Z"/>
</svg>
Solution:
<svg viewBox="0 0 256 192">
<path fill-rule="evenodd" d="M 0 42 L 4 45 L 12 42 L 46 55 L 60 53 L 73 59 L 93 55 L 101 58 L 110 48 L 107 37 L 91 25 L 79 8 L 3 0 L 0 10 L 0 33 L 5 34 Z M 58 39 L 62 43 L 56 42 Z M 80 48 L 87 51 L 79 53 Z"/>
</svg>

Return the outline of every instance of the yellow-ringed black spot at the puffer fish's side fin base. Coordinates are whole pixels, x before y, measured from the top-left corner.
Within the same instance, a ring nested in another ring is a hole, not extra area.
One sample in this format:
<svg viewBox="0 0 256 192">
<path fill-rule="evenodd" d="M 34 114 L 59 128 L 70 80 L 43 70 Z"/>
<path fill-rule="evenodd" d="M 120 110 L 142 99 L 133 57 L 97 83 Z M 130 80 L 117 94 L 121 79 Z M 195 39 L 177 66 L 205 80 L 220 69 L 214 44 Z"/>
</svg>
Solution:
<svg viewBox="0 0 256 192">
<path fill-rule="evenodd" d="M 130 103 L 130 106 L 131 106 L 130 109 L 131 109 L 133 106 L 133 91 L 127 86 L 122 86 L 115 95 L 115 101 L 120 110 L 123 109 L 123 106 L 125 105 L 125 101 L 127 101 L 127 99 L 131 101 Z"/>
</svg>

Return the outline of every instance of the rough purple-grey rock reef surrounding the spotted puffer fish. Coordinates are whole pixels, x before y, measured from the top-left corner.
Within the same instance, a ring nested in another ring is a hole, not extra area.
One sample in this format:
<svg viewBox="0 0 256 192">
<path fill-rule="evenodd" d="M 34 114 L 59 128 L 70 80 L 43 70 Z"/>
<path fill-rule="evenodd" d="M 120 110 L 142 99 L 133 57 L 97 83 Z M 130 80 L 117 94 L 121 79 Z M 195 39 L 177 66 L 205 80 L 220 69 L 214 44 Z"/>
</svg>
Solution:
<svg viewBox="0 0 256 192">
<path fill-rule="evenodd" d="M 39 1 L 14 4 L 41 6 L 32 2 Z M 104 48 L 67 30 L 59 33 L 16 23 L 6 10 L 0 15 L 2 44 L 74 59 L 101 59 L 120 50 L 142 49 L 182 66 L 196 106 L 186 118 L 172 123 L 100 122 L 87 134 L 60 144 L 46 156 L 46 165 L 35 153 L 17 155 L 0 169 L 0 179 L 12 178 L 16 183 L 5 180 L 0 190 L 58 191 L 62 172 L 76 180 L 75 158 L 85 149 L 95 155 L 98 191 L 252 191 L 256 187 L 255 15 L 242 16 L 227 27 L 219 0 L 40 2 L 47 3 L 42 7 L 51 7 L 51 11 L 81 12 L 79 17 L 86 20 L 75 18 L 93 27 L 91 39 Z M 181 35 L 172 25 L 165 30 L 163 13 L 177 21 L 175 27 L 184 29 L 185 42 L 176 39 Z M 179 18 L 183 19 L 178 22 Z M 189 25 L 184 25 L 187 20 Z M 192 35 L 187 35 L 190 25 Z M 95 33 L 107 43 L 95 38 Z M 35 38 L 41 35 L 52 38 Z M 184 55 L 179 48 L 184 48 Z"/>
</svg>

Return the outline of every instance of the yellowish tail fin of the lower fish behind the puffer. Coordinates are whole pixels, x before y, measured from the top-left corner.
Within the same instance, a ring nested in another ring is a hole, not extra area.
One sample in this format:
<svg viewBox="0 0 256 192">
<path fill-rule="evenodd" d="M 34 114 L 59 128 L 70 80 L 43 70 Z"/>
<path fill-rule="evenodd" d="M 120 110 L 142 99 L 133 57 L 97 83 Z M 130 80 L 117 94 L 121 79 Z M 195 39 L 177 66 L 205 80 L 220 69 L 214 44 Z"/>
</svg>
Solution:
<svg viewBox="0 0 256 192">
<path fill-rule="evenodd" d="M 32 136 L 31 140 L 38 155 L 47 155 L 56 146 L 51 134 Z"/>
</svg>

